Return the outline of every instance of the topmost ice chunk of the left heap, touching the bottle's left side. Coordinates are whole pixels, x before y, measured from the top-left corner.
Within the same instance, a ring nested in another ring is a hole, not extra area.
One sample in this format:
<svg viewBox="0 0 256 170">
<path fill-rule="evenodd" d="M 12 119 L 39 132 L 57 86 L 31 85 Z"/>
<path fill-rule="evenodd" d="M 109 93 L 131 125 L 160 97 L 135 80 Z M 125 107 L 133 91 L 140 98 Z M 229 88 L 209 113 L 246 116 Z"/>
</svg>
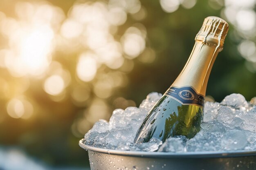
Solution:
<svg viewBox="0 0 256 170">
<path fill-rule="evenodd" d="M 156 102 L 162 97 L 161 93 L 152 92 L 147 95 L 147 98 L 140 104 L 139 108 L 149 111 Z"/>
</svg>

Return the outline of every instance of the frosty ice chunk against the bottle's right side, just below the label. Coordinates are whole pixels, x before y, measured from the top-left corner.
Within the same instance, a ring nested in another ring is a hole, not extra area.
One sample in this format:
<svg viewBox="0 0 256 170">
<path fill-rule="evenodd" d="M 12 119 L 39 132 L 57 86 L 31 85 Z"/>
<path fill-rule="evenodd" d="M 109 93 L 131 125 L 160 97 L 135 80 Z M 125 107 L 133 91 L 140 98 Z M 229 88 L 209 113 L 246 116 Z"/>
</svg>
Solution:
<svg viewBox="0 0 256 170">
<path fill-rule="evenodd" d="M 220 104 L 217 102 L 205 102 L 204 104 L 204 121 L 213 120 L 218 114 Z"/>
</svg>

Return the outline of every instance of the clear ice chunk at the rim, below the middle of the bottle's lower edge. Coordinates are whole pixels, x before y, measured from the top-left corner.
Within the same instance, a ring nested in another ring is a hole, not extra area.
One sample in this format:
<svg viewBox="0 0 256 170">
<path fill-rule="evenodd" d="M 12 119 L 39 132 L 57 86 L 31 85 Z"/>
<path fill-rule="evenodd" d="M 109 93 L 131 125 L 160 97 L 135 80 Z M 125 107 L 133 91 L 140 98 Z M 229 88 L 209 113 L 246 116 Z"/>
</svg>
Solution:
<svg viewBox="0 0 256 170">
<path fill-rule="evenodd" d="M 185 138 L 185 141 L 184 141 Z M 170 137 L 160 146 L 158 152 L 184 152 L 186 137 Z"/>
</svg>

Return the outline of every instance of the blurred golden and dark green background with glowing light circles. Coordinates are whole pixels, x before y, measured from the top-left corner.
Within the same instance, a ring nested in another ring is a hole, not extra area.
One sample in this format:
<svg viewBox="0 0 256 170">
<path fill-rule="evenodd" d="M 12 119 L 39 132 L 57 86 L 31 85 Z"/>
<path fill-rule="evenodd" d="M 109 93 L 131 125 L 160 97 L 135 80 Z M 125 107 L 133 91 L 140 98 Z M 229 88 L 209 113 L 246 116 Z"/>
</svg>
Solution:
<svg viewBox="0 0 256 170">
<path fill-rule="evenodd" d="M 207 95 L 256 96 L 255 0 L 0 0 L 0 170 L 89 166 L 79 139 L 164 93 L 205 17 L 230 24 Z"/>
</svg>

